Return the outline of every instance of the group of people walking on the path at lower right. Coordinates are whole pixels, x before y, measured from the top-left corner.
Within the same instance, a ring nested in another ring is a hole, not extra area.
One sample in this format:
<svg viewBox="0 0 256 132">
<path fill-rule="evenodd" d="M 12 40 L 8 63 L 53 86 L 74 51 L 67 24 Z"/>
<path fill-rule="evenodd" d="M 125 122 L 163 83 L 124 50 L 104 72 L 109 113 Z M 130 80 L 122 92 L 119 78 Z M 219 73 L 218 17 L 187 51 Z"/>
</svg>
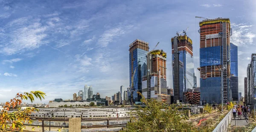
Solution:
<svg viewBox="0 0 256 132">
<path fill-rule="evenodd" d="M 244 105 L 234 105 L 233 107 L 233 117 L 236 119 L 236 112 L 238 114 L 238 118 L 241 120 L 241 115 L 244 115 L 245 119 L 248 119 L 248 115 L 250 112 L 250 107 L 247 107 L 245 104 Z"/>
</svg>

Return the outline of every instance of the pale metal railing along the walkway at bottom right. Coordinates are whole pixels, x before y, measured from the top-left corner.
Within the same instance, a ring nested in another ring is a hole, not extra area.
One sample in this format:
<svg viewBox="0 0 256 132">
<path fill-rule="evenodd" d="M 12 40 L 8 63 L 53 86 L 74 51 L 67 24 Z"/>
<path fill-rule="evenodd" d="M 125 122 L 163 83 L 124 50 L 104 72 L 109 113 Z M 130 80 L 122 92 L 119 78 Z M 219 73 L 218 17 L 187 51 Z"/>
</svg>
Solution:
<svg viewBox="0 0 256 132">
<path fill-rule="evenodd" d="M 215 127 L 212 132 L 227 132 L 227 127 L 231 123 L 233 116 L 232 110 L 221 120 L 221 122 Z"/>
</svg>

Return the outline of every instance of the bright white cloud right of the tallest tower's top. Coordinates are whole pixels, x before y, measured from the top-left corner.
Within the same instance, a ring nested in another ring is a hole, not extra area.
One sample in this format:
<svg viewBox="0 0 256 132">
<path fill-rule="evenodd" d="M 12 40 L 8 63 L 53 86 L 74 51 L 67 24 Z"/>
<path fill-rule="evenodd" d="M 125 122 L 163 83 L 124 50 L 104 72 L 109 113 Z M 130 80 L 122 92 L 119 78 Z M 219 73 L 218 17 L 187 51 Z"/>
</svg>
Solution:
<svg viewBox="0 0 256 132">
<path fill-rule="evenodd" d="M 231 24 L 233 35 L 230 37 L 230 42 L 234 43 L 237 46 L 246 46 L 252 45 L 253 39 L 256 37 L 256 34 L 253 34 L 249 29 L 253 25 L 242 24 Z"/>
</svg>

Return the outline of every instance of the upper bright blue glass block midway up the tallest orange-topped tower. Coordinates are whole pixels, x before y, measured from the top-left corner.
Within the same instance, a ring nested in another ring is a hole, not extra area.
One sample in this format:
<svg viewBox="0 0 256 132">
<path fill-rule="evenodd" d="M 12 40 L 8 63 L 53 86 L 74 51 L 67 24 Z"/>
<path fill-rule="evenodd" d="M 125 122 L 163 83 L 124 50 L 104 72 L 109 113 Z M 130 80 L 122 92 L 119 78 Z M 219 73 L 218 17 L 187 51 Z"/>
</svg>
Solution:
<svg viewBox="0 0 256 132">
<path fill-rule="evenodd" d="M 221 65 L 221 46 L 200 48 L 200 67 Z"/>
</svg>

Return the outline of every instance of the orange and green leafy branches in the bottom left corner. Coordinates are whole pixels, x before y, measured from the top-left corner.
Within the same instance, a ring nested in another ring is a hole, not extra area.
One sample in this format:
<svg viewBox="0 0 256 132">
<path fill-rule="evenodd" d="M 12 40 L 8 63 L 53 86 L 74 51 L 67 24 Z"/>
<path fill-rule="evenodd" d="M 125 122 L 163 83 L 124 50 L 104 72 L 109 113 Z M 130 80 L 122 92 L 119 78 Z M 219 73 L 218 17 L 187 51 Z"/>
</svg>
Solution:
<svg viewBox="0 0 256 132">
<path fill-rule="evenodd" d="M 46 95 L 44 92 L 41 91 L 31 91 L 30 93 L 17 93 L 15 98 L 12 98 L 10 101 L 6 102 L 3 106 L 3 110 L 0 112 L 0 130 L 11 128 L 12 130 L 20 130 L 23 131 L 23 123 L 32 124 L 32 120 L 30 119 L 30 114 L 32 112 L 38 112 L 39 110 L 34 107 L 27 107 L 25 110 L 21 110 L 20 108 L 17 109 L 15 112 L 9 113 L 10 108 L 15 108 L 17 105 L 23 103 L 23 100 L 30 100 L 31 102 L 35 101 L 36 98 L 44 98 Z M 34 97 L 35 96 L 35 97 Z M 10 126 L 8 123 L 11 123 Z"/>
</svg>

